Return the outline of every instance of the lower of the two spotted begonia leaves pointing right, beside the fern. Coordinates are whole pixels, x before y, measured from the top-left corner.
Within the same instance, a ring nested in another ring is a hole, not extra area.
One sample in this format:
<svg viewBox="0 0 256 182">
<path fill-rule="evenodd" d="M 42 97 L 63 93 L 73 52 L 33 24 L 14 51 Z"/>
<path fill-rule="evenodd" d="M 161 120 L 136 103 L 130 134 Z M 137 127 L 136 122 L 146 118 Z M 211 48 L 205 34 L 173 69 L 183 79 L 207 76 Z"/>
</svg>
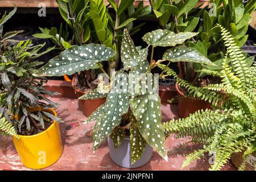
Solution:
<svg viewBox="0 0 256 182">
<path fill-rule="evenodd" d="M 163 55 L 163 60 L 169 60 L 171 62 L 183 61 L 205 65 L 215 65 L 207 57 L 197 51 L 197 49 L 186 46 L 177 46 L 168 49 Z"/>
</svg>

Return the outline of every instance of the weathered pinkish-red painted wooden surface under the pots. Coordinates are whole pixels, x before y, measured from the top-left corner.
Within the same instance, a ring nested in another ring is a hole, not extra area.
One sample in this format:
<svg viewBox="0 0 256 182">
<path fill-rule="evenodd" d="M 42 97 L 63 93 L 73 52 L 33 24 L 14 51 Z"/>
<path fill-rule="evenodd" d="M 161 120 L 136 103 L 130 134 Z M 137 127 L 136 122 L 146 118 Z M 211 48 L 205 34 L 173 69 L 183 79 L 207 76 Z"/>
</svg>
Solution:
<svg viewBox="0 0 256 182">
<path fill-rule="evenodd" d="M 60 104 L 56 111 L 58 116 L 64 120 L 64 123 L 60 123 L 64 152 L 55 164 L 43 170 L 129 170 L 112 162 L 106 142 L 102 143 L 93 154 L 92 137 L 89 137 L 88 134 L 92 131 L 94 122 L 83 125 L 86 118 L 77 109 L 77 100 L 68 98 L 52 98 L 52 100 Z M 177 106 L 164 104 L 162 105 L 162 113 L 163 121 L 177 118 Z M 67 130 L 66 127 L 69 123 L 74 122 L 79 122 L 80 125 Z M 168 162 L 154 151 L 150 162 L 133 170 L 180 170 L 185 156 L 192 150 L 199 148 L 193 144 L 184 146 L 189 141 L 189 138 L 175 139 L 174 135 L 171 135 L 166 142 Z M 204 159 L 196 160 L 184 170 L 207 170 L 209 168 L 208 159 L 209 156 L 205 156 Z M 0 170 L 31 170 L 24 167 L 20 162 L 10 137 L 0 137 Z M 223 170 L 236 170 L 236 168 L 229 162 Z"/>
</svg>

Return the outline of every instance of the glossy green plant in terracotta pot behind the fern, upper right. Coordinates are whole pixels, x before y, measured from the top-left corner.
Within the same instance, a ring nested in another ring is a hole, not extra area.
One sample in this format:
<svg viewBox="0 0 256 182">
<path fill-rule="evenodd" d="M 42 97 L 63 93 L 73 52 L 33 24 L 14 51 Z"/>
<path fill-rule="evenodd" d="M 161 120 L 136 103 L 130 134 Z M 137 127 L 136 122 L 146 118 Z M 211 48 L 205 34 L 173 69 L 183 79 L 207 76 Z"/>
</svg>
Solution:
<svg viewBox="0 0 256 182">
<path fill-rule="evenodd" d="M 242 47 L 248 37 L 246 32 L 251 19 L 250 14 L 255 10 L 255 1 L 247 1 L 246 3 L 242 1 L 210 1 L 208 6 L 195 0 L 150 2 L 160 26 L 164 29 L 176 33 L 183 31 L 199 32 L 196 38 L 192 38 L 186 44 L 196 48 L 215 64 L 177 63 L 180 78 L 195 86 L 220 83 L 220 79 L 217 77 L 198 72 L 203 68 L 213 71 L 221 69 L 221 63 L 225 57 L 225 47 L 220 42 L 220 35 L 218 34 L 220 28 L 217 23 L 231 31 L 238 46 Z M 254 56 L 247 59 L 248 62 L 253 60 Z M 211 104 L 209 102 L 188 96 L 188 90 L 177 83 L 175 87 L 179 95 L 177 101 L 181 118 L 187 117 L 196 110 L 210 109 Z"/>
</svg>

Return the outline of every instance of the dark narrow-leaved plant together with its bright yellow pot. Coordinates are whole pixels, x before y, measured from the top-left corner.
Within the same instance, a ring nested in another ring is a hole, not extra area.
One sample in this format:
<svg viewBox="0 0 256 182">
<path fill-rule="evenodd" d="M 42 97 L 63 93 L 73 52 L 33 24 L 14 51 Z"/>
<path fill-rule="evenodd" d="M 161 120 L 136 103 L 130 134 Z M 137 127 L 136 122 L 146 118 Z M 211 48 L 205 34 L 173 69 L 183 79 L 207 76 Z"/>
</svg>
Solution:
<svg viewBox="0 0 256 182">
<path fill-rule="evenodd" d="M 1 30 L 15 11 L 2 16 Z M 44 44 L 12 40 L 19 32 L 0 33 L 0 130 L 13 135 L 24 166 L 40 169 L 55 163 L 63 151 L 57 123 L 61 119 L 52 109 L 56 104 L 47 98 L 56 93 L 43 87 L 46 78 L 35 76 L 42 64 L 38 57 L 52 48 L 39 53 Z"/>
</svg>

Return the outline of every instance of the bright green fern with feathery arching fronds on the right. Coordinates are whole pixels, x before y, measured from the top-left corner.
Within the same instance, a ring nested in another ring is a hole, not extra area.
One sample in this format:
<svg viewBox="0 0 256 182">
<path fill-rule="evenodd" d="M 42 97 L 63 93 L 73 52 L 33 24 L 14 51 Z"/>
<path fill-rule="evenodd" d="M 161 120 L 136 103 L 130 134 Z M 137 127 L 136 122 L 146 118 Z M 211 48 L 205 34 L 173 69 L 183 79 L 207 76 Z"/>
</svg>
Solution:
<svg viewBox="0 0 256 182">
<path fill-rule="evenodd" d="M 243 152 L 240 169 L 244 169 L 247 155 L 256 150 L 256 64 L 247 65 L 246 57 L 232 34 L 224 27 L 220 28 L 227 48 L 222 69 L 220 72 L 209 69 L 201 72 L 221 77 L 221 84 L 197 88 L 181 80 L 172 69 L 158 65 L 166 70 L 167 75 L 176 77 L 191 96 L 212 101 L 215 107 L 214 110 L 197 111 L 187 118 L 164 123 L 164 129 L 177 133 L 177 137 L 192 136 L 193 141 L 204 144 L 203 148 L 187 156 L 182 168 L 205 153 L 214 152 L 216 158 L 210 170 L 220 170 L 233 153 Z"/>
</svg>

